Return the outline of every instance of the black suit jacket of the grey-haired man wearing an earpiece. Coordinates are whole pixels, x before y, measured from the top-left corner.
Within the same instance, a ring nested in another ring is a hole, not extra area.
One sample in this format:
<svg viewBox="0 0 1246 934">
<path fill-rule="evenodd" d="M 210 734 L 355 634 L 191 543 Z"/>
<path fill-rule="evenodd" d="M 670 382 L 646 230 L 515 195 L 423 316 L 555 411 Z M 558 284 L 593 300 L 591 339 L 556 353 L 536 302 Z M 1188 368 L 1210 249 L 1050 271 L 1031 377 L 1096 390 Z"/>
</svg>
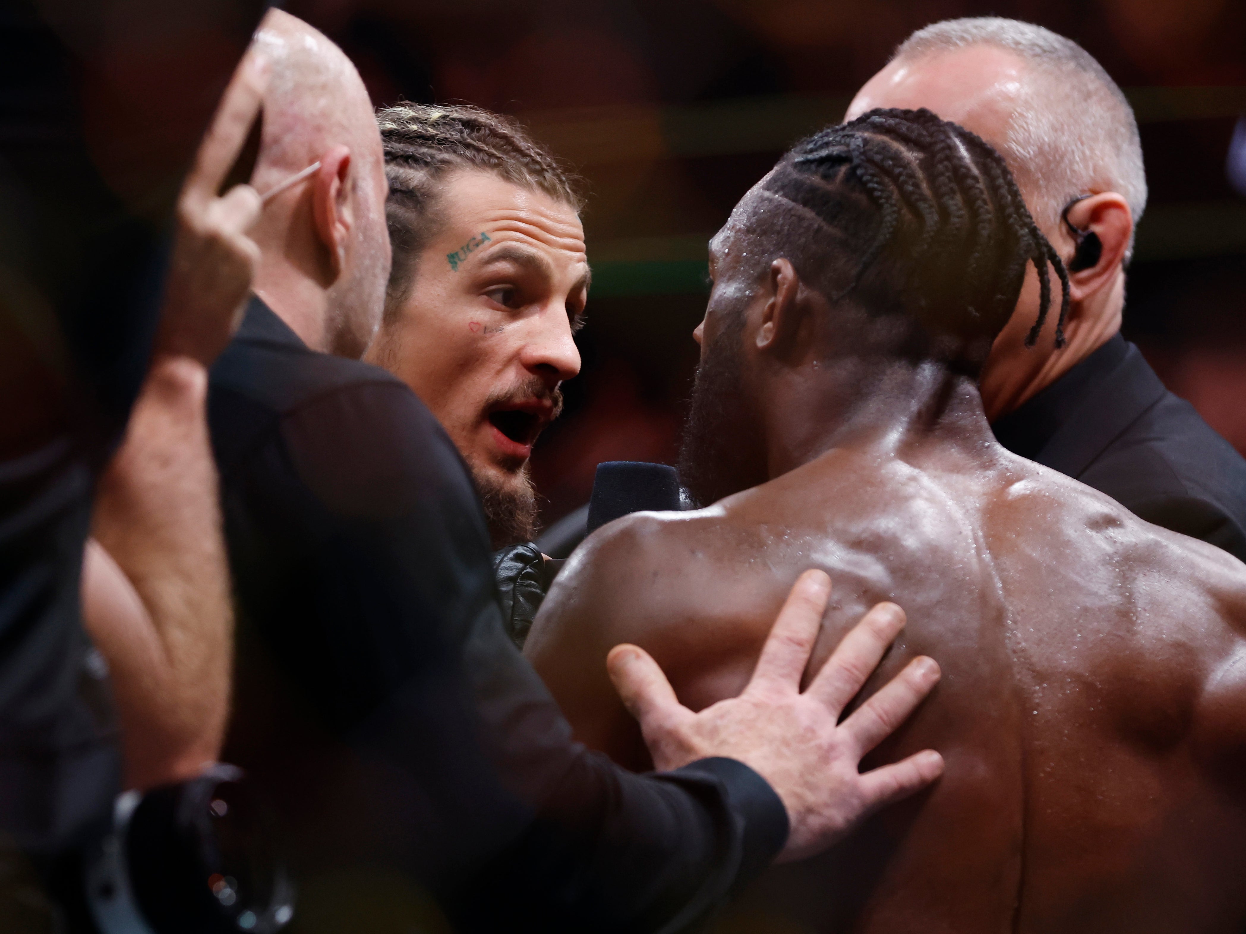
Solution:
<svg viewBox="0 0 1246 934">
<path fill-rule="evenodd" d="M 1246 560 L 1246 461 L 1119 334 L 992 428 L 1013 453 Z"/>
</svg>

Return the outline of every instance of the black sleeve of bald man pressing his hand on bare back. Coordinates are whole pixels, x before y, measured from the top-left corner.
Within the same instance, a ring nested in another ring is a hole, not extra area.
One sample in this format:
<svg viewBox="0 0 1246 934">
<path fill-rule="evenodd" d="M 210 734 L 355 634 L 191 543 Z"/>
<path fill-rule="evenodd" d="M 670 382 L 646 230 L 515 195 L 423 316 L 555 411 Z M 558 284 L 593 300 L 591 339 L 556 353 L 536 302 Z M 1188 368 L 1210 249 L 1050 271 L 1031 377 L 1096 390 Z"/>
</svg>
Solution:
<svg viewBox="0 0 1246 934">
<path fill-rule="evenodd" d="M 781 848 L 782 804 L 739 762 L 637 776 L 572 741 L 503 629 L 459 453 L 405 387 L 300 407 L 224 487 L 247 615 L 380 763 L 370 807 L 460 929 L 675 930 Z"/>
</svg>

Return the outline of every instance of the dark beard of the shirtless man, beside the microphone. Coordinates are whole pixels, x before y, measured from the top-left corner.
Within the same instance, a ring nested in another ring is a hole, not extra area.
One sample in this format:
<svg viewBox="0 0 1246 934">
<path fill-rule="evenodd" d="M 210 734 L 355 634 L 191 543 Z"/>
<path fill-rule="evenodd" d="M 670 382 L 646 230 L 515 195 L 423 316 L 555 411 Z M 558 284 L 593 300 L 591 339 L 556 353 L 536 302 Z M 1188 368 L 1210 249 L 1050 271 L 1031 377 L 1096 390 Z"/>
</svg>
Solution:
<svg viewBox="0 0 1246 934">
<path fill-rule="evenodd" d="M 751 476 L 740 443 L 748 406 L 740 391 L 740 337 L 744 315 L 724 329 L 706 352 L 688 402 L 679 446 L 679 481 L 697 506 L 709 506 L 739 493 L 765 477 Z"/>
</svg>

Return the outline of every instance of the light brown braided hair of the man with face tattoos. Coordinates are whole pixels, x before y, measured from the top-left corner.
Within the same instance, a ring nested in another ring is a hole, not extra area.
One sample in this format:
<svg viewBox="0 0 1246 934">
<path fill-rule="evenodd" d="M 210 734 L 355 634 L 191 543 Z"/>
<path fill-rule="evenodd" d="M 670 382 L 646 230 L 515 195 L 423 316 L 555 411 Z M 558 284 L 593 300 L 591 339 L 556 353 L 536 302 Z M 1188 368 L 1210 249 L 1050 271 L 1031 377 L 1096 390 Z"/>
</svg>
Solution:
<svg viewBox="0 0 1246 934">
<path fill-rule="evenodd" d="M 492 172 L 576 210 L 583 207 L 579 179 L 508 117 L 470 105 L 404 102 L 379 110 L 376 123 L 385 148 L 385 213 L 394 250 L 386 315 L 410 290 L 415 260 L 437 229 L 437 194 L 446 174 Z"/>
</svg>

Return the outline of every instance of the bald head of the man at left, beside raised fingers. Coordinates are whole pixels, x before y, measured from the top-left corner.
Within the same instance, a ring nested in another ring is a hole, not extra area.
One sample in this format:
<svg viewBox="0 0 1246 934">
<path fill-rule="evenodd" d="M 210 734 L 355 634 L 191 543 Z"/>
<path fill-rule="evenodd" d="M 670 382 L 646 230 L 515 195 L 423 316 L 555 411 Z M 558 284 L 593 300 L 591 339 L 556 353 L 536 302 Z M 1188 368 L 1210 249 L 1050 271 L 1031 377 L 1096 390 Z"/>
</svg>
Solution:
<svg viewBox="0 0 1246 934">
<path fill-rule="evenodd" d="M 249 54 L 269 72 L 252 184 L 279 189 L 254 232 L 255 294 L 313 349 L 363 356 L 390 267 L 385 157 L 368 90 L 338 46 L 280 10 L 264 16 Z"/>
</svg>

